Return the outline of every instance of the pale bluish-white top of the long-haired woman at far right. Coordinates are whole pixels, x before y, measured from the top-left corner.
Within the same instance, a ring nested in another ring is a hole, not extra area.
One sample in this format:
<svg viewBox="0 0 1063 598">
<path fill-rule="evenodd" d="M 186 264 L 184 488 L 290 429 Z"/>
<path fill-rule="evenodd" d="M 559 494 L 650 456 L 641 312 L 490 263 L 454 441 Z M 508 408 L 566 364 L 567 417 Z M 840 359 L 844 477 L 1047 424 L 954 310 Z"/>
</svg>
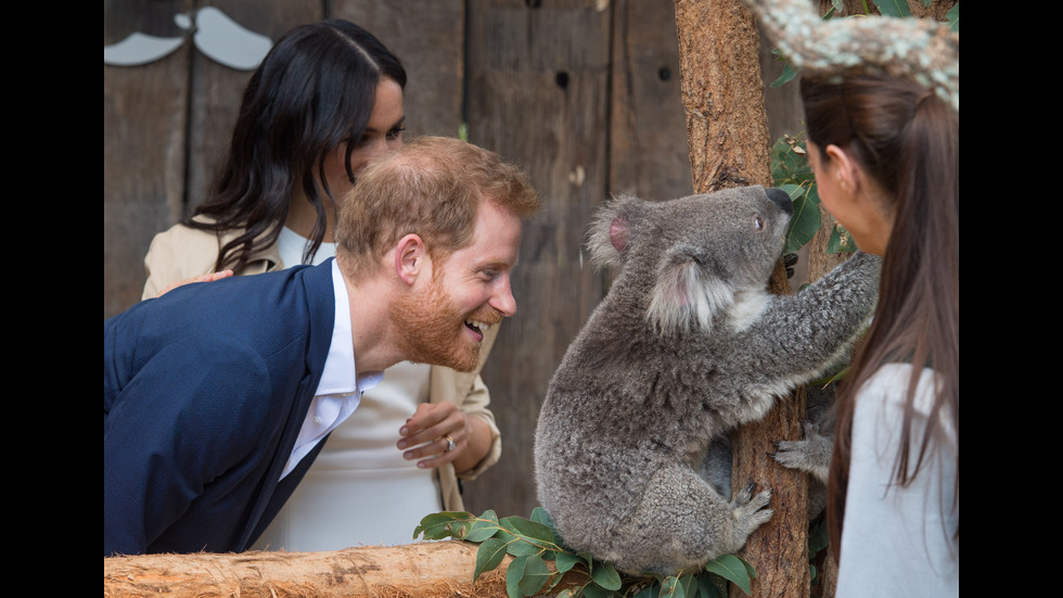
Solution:
<svg viewBox="0 0 1063 598">
<path fill-rule="evenodd" d="M 960 595 L 960 544 L 953 539 L 959 504 L 952 511 L 956 431 L 940 430 L 939 448 L 924 457 L 909 486 L 892 480 L 910 372 L 908 365 L 886 365 L 857 395 L 837 598 Z M 932 379 L 933 372 L 923 370 L 913 438 L 922 438 L 925 429 Z"/>
</svg>

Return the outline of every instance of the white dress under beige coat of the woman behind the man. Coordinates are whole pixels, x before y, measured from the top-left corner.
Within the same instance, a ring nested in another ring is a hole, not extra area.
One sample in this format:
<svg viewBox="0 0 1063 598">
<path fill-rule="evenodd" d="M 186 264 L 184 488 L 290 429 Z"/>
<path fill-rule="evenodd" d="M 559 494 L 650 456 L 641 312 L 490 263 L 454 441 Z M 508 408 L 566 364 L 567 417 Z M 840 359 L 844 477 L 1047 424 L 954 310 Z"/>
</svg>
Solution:
<svg viewBox="0 0 1063 598">
<path fill-rule="evenodd" d="M 282 229 L 278 249 L 284 264 L 300 263 L 304 244 L 303 238 Z M 335 244 L 322 243 L 315 263 L 333 255 Z M 396 443 L 399 428 L 428 398 L 430 370 L 402 362 L 384 372 L 381 383 L 362 395 L 355 412 L 329 436 L 253 550 L 338 550 L 413 542 L 421 519 L 443 510 L 443 505 L 433 470 L 404 459 Z"/>
</svg>

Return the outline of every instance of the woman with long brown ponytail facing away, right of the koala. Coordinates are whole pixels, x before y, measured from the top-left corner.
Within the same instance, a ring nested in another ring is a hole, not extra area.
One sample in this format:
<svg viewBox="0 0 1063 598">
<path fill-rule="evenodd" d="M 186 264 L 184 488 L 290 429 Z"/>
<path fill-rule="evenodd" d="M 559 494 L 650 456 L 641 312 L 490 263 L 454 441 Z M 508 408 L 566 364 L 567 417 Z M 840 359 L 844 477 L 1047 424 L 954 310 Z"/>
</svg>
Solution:
<svg viewBox="0 0 1063 598">
<path fill-rule="evenodd" d="M 884 256 L 838 398 L 836 596 L 959 596 L 959 114 L 898 78 L 805 79 L 801 91 L 823 205 Z"/>
</svg>

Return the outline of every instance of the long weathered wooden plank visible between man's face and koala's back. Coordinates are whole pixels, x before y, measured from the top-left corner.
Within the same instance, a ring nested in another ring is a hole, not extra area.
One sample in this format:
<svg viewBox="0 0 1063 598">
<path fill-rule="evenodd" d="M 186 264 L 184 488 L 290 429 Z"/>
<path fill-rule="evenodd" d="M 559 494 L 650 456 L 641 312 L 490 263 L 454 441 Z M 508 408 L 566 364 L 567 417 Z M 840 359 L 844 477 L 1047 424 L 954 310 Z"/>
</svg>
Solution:
<svg viewBox="0 0 1063 598">
<path fill-rule="evenodd" d="M 513 277 L 518 309 L 484 379 L 502 459 L 466 484 L 471 511 L 527 517 L 537 504 L 533 443 L 547 383 L 603 294 L 582 252 L 607 180 L 611 9 L 591 0 L 472 0 L 470 141 L 527 169 L 546 211 L 525 226 Z"/>
</svg>

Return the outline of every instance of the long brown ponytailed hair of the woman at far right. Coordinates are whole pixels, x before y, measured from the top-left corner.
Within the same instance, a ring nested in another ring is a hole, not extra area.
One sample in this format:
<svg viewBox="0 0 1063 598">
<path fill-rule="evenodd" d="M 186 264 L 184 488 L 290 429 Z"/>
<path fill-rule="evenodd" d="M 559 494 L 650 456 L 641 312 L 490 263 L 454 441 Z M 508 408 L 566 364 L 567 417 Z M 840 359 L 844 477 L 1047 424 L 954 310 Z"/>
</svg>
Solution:
<svg viewBox="0 0 1063 598">
<path fill-rule="evenodd" d="M 951 482 L 951 509 L 959 509 L 960 117 L 932 92 L 898 78 L 804 79 L 801 93 L 809 141 L 849 152 L 881 186 L 894 215 L 874 319 L 838 398 L 827 509 L 831 540 L 840 550 L 855 395 L 884 364 L 914 366 L 894 481 L 910 484 L 940 431 L 951 429 L 956 479 L 942 483 Z M 912 437 L 912 403 L 923 367 L 935 374 L 934 402 L 922 437 Z M 959 538 L 958 512 L 955 535 Z"/>
</svg>

